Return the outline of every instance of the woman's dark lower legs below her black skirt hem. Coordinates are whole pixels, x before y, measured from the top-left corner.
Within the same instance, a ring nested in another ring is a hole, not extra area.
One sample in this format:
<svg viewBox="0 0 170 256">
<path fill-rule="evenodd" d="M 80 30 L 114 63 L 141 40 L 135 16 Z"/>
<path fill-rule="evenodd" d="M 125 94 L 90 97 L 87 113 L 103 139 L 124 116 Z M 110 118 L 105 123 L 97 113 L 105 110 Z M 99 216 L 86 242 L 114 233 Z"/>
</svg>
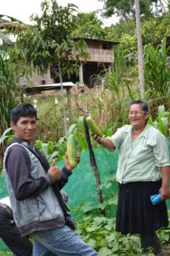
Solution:
<svg viewBox="0 0 170 256">
<path fill-rule="evenodd" d="M 140 235 L 141 247 L 143 253 L 149 253 L 150 248 L 156 256 L 162 256 L 164 253 L 163 247 L 159 238 L 156 236 L 156 232 L 141 234 Z"/>
</svg>

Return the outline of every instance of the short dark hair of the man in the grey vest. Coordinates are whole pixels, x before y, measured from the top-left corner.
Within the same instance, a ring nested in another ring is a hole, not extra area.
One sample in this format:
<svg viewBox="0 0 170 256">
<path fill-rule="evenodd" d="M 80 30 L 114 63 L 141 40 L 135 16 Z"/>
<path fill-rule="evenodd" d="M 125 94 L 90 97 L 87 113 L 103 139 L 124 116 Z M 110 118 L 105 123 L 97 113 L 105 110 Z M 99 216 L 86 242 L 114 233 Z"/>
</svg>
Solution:
<svg viewBox="0 0 170 256">
<path fill-rule="evenodd" d="M 10 120 L 16 125 L 20 117 L 35 117 L 37 119 L 37 110 L 30 103 L 22 103 L 13 108 L 10 113 Z"/>
</svg>

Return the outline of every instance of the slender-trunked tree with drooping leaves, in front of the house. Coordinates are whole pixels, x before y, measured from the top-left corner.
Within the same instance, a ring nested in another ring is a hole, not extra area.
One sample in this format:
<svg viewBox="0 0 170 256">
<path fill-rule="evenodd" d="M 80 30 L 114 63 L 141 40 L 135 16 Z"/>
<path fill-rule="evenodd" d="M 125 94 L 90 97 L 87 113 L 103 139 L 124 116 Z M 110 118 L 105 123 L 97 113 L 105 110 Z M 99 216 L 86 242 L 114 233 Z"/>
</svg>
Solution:
<svg viewBox="0 0 170 256">
<path fill-rule="evenodd" d="M 34 26 L 26 32 L 19 32 L 16 44 L 10 52 L 13 59 L 26 59 L 26 64 L 46 73 L 48 69 L 59 78 L 63 91 L 63 76 L 78 71 L 79 58 L 87 54 L 87 46 L 82 40 L 73 40 L 76 27 L 77 6 L 59 6 L 55 0 L 44 0 L 41 5 L 42 16 L 32 16 Z M 65 104 L 63 98 L 63 115 Z M 67 131 L 65 121 L 65 134 Z"/>
</svg>

